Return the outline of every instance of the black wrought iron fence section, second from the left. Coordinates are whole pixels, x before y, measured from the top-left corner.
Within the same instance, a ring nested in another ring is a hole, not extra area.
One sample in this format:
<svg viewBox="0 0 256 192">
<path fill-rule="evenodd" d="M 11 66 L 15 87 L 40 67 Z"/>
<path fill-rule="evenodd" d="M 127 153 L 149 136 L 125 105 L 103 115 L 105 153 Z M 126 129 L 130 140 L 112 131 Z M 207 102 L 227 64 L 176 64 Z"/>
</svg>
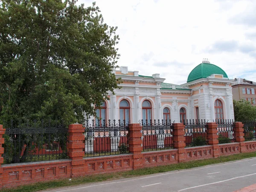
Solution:
<svg viewBox="0 0 256 192">
<path fill-rule="evenodd" d="M 85 157 L 128 153 L 128 122 L 88 120 L 84 125 Z"/>
</svg>

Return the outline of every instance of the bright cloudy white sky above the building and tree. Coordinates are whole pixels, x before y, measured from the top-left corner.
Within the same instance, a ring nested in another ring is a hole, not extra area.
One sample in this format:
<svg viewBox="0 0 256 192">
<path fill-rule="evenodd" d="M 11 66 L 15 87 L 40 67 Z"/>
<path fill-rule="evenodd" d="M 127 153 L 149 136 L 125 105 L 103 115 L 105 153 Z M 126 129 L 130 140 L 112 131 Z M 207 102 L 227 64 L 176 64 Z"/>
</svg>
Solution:
<svg viewBox="0 0 256 192">
<path fill-rule="evenodd" d="M 229 79 L 256 82 L 256 0 L 96 1 L 105 23 L 117 26 L 117 65 L 164 82 L 184 84 L 204 58 Z"/>
</svg>

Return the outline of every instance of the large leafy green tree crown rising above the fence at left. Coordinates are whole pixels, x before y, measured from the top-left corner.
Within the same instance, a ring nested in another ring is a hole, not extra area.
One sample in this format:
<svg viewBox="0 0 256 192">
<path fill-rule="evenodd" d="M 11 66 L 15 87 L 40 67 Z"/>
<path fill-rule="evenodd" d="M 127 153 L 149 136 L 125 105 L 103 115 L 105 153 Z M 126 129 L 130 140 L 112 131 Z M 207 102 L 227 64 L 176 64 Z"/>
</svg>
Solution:
<svg viewBox="0 0 256 192">
<path fill-rule="evenodd" d="M 75 0 L 2 0 L 0 123 L 82 122 L 118 87 L 117 28 L 99 12 Z"/>
</svg>

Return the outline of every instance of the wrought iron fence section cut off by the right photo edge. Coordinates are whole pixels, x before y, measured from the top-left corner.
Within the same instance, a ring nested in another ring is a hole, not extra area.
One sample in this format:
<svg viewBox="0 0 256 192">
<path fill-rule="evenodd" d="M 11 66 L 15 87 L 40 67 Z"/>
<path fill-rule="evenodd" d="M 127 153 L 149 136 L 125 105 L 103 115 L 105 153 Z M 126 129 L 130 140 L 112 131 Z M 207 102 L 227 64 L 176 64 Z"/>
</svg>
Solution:
<svg viewBox="0 0 256 192">
<path fill-rule="evenodd" d="M 255 141 L 256 140 L 256 120 L 244 120 L 244 140 Z"/>
</svg>

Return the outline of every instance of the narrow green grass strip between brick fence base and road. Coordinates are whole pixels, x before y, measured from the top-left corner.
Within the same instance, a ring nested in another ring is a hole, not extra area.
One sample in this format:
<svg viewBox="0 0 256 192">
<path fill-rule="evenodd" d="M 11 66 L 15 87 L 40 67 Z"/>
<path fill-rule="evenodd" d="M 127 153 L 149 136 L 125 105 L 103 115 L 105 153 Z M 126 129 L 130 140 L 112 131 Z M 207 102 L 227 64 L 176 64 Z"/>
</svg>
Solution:
<svg viewBox="0 0 256 192">
<path fill-rule="evenodd" d="M 2 189 L 2 192 L 35 192 L 35 191 L 64 187 L 64 186 L 75 186 L 75 185 L 81 185 L 85 183 L 95 183 L 95 182 L 107 181 L 107 180 L 113 180 L 113 179 L 122 179 L 122 178 L 136 177 L 136 176 L 142 176 L 142 175 L 150 175 L 155 173 L 170 172 L 170 171 L 181 170 L 181 169 L 191 169 L 191 168 L 196 168 L 201 166 L 212 165 L 216 163 L 225 163 L 229 161 L 246 159 L 250 157 L 256 157 L 256 152 L 221 156 L 215 159 L 194 160 L 186 163 L 177 163 L 177 164 L 170 164 L 167 166 L 149 167 L 149 168 L 143 168 L 143 169 L 137 169 L 137 170 L 131 170 L 131 171 L 104 173 L 104 174 L 98 174 L 98 175 L 87 175 L 85 177 L 72 178 L 71 181 L 69 180 L 69 178 L 66 178 L 66 179 L 52 180 L 47 182 L 39 182 L 39 183 L 30 184 L 30 185 L 19 186 L 17 188 Z"/>
</svg>

